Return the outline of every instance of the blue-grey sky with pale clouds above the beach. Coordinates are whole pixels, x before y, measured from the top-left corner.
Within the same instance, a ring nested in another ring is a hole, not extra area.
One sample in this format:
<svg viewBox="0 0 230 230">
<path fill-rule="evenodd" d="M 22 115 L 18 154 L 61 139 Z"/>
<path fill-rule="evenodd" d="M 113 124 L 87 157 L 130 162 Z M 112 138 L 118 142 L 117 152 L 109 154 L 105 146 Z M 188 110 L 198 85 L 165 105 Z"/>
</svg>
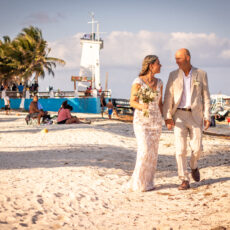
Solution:
<svg viewBox="0 0 230 230">
<path fill-rule="evenodd" d="M 100 23 L 104 48 L 100 51 L 101 82 L 112 97 L 129 98 L 133 80 L 146 55 L 162 64 L 166 86 L 177 69 L 174 55 L 187 48 L 192 65 L 208 74 L 211 94 L 230 96 L 230 0 L 0 0 L 0 39 L 15 38 L 30 25 L 41 29 L 50 56 L 66 61 L 55 77 L 39 80 L 40 91 L 49 86 L 73 90 L 71 76 L 80 70 L 80 38 L 91 32 L 90 12 Z"/>
</svg>

